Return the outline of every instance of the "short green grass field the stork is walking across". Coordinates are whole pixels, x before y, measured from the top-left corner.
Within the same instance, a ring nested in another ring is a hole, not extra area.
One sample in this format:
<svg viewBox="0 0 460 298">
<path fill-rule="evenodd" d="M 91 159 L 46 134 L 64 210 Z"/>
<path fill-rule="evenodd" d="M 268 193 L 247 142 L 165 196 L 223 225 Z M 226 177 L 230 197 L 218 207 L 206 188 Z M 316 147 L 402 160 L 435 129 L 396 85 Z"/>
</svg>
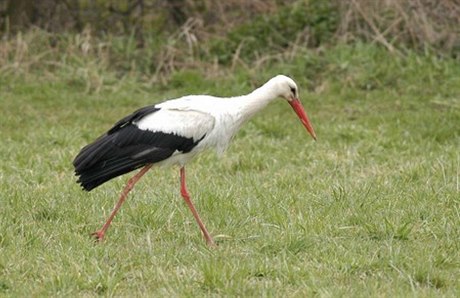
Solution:
<svg viewBox="0 0 460 298">
<path fill-rule="evenodd" d="M 278 73 L 297 81 L 318 142 L 279 101 L 223 159 L 189 164 L 217 249 L 176 168 L 149 172 L 94 243 L 128 177 L 81 191 L 71 162 L 83 145 L 138 107 L 242 94 Z M 0 77 L 0 296 L 460 295 L 458 60 L 337 46 L 209 77 L 98 92 L 72 74 Z"/>
</svg>

